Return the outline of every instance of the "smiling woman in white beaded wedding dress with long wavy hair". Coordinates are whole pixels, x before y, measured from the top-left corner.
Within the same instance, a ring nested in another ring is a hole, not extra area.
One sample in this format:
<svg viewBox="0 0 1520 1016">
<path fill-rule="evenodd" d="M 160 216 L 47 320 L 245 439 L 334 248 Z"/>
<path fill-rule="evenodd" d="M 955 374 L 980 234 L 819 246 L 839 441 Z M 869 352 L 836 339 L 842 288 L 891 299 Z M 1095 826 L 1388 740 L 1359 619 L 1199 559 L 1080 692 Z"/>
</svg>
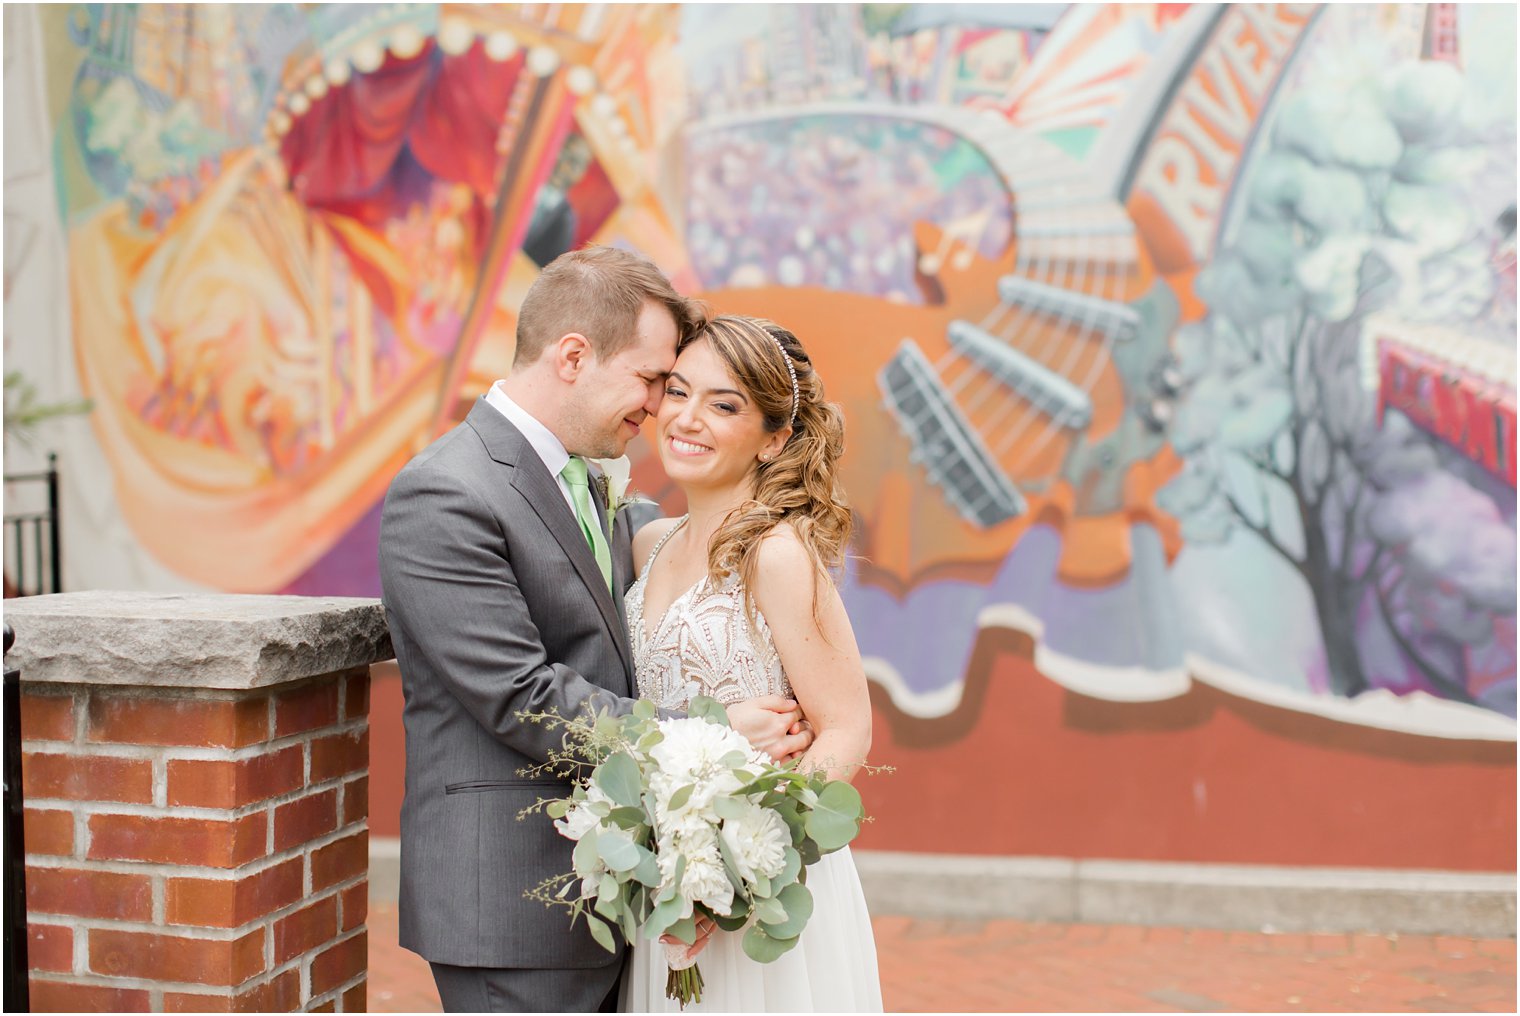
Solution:
<svg viewBox="0 0 1520 1016">
<path fill-rule="evenodd" d="M 676 357 L 657 417 L 660 459 L 689 514 L 634 538 L 643 572 L 626 596 L 638 695 L 684 709 L 793 697 L 815 732 L 798 760 L 851 779 L 871 747 L 865 671 L 839 590 L 850 508 L 836 476 L 844 417 L 796 336 L 758 318 L 717 316 Z M 742 932 L 707 926 L 686 958 L 702 966 L 695 1011 L 882 1011 L 876 943 L 850 849 L 807 868 L 813 916 L 775 963 Z M 676 1011 L 667 949 L 640 941 L 623 1008 Z"/>
</svg>

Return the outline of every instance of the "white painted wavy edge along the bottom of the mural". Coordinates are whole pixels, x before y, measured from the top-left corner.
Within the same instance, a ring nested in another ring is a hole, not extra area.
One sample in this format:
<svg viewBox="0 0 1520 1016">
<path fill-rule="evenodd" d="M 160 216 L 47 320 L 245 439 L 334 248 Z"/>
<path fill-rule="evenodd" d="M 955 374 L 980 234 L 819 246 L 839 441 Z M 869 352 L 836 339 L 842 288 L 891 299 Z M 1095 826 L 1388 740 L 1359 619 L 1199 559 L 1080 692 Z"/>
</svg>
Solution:
<svg viewBox="0 0 1520 1016">
<path fill-rule="evenodd" d="M 1015 604 L 986 607 L 977 614 L 976 622 L 979 630 L 1005 628 L 1028 634 L 1035 642 L 1035 669 L 1062 687 L 1090 698 L 1161 701 L 1184 695 L 1193 681 L 1202 681 L 1239 698 L 1362 727 L 1456 741 L 1515 741 L 1515 724 L 1509 718 L 1426 692 L 1397 695 L 1388 689 L 1374 689 L 1356 698 L 1313 695 L 1271 684 L 1192 652 L 1184 657 L 1184 666 L 1175 669 L 1105 666 L 1044 646 L 1044 624 Z M 886 689 L 892 704 L 909 716 L 935 719 L 955 712 L 961 704 L 964 681 L 932 692 L 915 692 L 897 668 L 882 657 L 868 657 L 865 672 L 869 680 Z"/>
</svg>

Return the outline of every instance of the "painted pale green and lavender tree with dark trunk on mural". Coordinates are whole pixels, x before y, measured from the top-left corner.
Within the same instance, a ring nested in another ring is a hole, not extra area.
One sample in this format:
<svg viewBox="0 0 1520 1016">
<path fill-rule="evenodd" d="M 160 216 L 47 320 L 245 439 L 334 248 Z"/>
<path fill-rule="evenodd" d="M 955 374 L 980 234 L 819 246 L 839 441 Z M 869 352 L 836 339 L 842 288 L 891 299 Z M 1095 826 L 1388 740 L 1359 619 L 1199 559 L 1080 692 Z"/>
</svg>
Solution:
<svg viewBox="0 0 1520 1016">
<path fill-rule="evenodd" d="M 1512 631 L 1512 517 L 1401 415 L 1379 426 L 1359 364 L 1374 310 L 1453 322 L 1488 306 L 1493 216 L 1471 181 L 1506 148 L 1514 173 L 1512 129 L 1494 131 L 1449 64 L 1304 82 L 1199 277 L 1210 313 L 1176 339 L 1186 468 L 1163 503 L 1190 540 L 1243 526 L 1298 570 L 1342 695 L 1409 683 L 1370 672 L 1382 630 L 1401 669 L 1471 701 L 1470 654 Z"/>
</svg>

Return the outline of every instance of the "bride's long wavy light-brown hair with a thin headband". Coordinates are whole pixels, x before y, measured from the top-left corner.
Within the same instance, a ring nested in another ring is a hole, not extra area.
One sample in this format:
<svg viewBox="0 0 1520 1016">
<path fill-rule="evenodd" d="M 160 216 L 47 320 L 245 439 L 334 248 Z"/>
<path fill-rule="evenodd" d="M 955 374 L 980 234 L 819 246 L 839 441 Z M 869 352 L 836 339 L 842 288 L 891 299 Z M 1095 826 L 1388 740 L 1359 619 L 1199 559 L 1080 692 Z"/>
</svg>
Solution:
<svg viewBox="0 0 1520 1016">
<path fill-rule="evenodd" d="M 724 519 L 707 549 L 713 581 L 737 573 L 752 587 L 760 543 L 786 522 L 813 558 L 816 583 L 839 569 L 850 545 L 853 517 L 839 484 L 839 456 L 845 450 L 845 418 L 824 398 L 824 383 L 795 335 L 765 318 L 719 315 L 690 342 L 711 342 L 713 351 L 765 417 L 775 433 L 787 424 L 792 437 L 769 462 L 757 462 L 754 497 Z M 796 371 L 796 420 L 792 420 L 792 374 Z M 751 618 L 752 621 L 752 618 Z"/>
</svg>

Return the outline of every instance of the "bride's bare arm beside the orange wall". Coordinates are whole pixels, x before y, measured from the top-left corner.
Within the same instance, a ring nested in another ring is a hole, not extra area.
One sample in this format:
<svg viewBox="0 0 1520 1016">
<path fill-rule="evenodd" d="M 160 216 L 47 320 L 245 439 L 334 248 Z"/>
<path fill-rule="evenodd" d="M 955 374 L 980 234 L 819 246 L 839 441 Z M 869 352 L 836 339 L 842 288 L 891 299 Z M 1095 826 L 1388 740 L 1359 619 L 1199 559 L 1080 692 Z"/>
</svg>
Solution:
<svg viewBox="0 0 1520 1016">
<path fill-rule="evenodd" d="M 815 573 L 796 534 L 781 525 L 760 546 L 752 593 L 792 694 L 813 727 L 813 745 L 798 765 L 827 768 L 831 779 L 848 780 L 871 750 L 871 695 L 839 590 L 827 575 L 815 583 Z"/>
</svg>

